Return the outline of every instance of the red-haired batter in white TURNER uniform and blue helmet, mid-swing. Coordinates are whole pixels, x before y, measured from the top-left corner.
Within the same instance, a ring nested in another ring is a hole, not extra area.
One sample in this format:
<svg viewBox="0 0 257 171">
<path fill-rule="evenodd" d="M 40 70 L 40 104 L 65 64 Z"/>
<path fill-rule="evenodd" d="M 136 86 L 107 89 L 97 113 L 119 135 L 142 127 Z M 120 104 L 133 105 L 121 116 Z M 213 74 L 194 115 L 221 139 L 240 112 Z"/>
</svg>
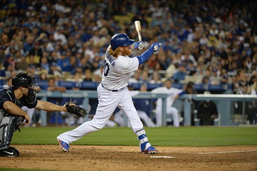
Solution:
<svg viewBox="0 0 257 171">
<path fill-rule="evenodd" d="M 91 121 L 87 121 L 74 130 L 57 137 L 64 152 L 69 152 L 69 144 L 79 138 L 102 129 L 118 106 L 128 117 L 129 124 L 140 141 L 140 152 L 156 154 L 157 149 L 149 143 L 143 124 L 133 105 L 127 88 L 132 71 L 144 63 L 153 52 L 161 48 L 161 43 L 153 43 L 142 55 L 130 58 L 131 50 L 143 49 L 144 42 L 134 42 L 126 34 L 116 34 L 111 38 L 111 45 L 105 53 L 103 79 L 97 87 L 98 107 Z"/>
</svg>

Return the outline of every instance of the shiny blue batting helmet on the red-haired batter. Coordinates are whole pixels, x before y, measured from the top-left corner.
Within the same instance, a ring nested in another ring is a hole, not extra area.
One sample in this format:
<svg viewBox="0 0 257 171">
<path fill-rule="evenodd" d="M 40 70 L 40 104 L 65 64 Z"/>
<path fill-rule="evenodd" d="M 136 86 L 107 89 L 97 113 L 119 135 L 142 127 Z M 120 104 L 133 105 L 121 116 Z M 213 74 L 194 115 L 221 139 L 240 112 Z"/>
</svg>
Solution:
<svg viewBox="0 0 257 171">
<path fill-rule="evenodd" d="M 124 33 L 115 34 L 111 38 L 111 47 L 115 51 L 119 46 L 132 45 L 135 41 L 128 38 L 128 35 Z"/>
</svg>

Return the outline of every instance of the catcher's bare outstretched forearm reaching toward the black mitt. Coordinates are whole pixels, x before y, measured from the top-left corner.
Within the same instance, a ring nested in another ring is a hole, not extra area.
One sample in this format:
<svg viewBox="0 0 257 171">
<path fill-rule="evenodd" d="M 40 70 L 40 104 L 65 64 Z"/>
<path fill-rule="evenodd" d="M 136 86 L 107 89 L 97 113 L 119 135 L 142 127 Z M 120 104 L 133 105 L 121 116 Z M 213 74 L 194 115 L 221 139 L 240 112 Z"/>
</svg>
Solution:
<svg viewBox="0 0 257 171">
<path fill-rule="evenodd" d="M 76 106 L 73 103 L 70 103 L 70 106 Z M 47 102 L 47 101 L 43 101 L 43 100 L 38 100 L 38 104 L 35 107 L 36 109 L 40 109 L 40 110 L 44 110 L 44 111 L 64 111 L 67 112 L 67 109 L 65 107 L 65 105 L 63 106 L 58 106 L 55 105 L 53 103 Z"/>
</svg>

